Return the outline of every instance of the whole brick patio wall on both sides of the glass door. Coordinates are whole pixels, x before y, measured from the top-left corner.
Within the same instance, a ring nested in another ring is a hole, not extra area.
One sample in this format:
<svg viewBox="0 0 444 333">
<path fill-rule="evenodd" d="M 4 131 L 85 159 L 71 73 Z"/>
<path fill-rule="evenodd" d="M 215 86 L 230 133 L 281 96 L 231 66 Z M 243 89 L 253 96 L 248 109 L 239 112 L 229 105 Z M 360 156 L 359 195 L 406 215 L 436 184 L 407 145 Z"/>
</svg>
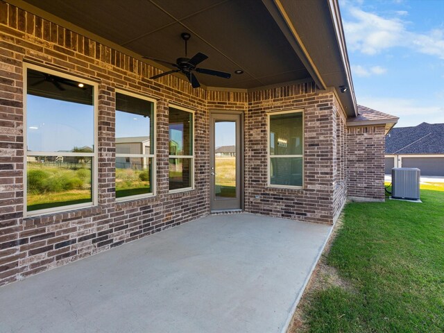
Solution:
<svg viewBox="0 0 444 333">
<path fill-rule="evenodd" d="M 192 89 L 176 76 L 149 80 L 160 70 L 1 0 L 0 34 L 0 284 L 209 214 L 210 110 L 244 112 L 247 212 L 332 223 L 346 187 L 336 187 L 344 174 L 334 165 L 343 154 L 336 142 L 343 140 L 344 121 L 331 92 L 316 92 L 314 83 L 247 94 Z M 99 82 L 98 206 L 24 218 L 24 62 Z M 115 89 L 157 100 L 156 196 L 115 200 Z M 174 105 L 195 111 L 195 189 L 171 194 L 168 110 Z M 266 112 L 300 108 L 305 187 L 268 188 Z"/>
</svg>

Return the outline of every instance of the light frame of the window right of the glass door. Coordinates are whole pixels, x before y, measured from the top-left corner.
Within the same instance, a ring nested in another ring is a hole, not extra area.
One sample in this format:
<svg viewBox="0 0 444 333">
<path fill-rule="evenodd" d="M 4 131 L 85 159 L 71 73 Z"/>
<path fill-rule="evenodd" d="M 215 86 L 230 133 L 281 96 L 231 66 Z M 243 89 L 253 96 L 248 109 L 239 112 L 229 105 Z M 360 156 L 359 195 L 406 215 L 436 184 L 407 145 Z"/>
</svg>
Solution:
<svg viewBox="0 0 444 333">
<path fill-rule="evenodd" d="M 289 113 L 302 113 L 302 155 L 271 155 L 270 153 L 270 137 L 271 137 L 271 122 L 270 117 L 275 116 L 278 114 L 289 114 Z M 305 119 L 304 119 L 304 110 L 303 109 L 297 109 L 297 110 L 287 110 L 287 111 L 277 111 L 277 112 L 268 112 L 267 113 L 267 187 L 275 187 L 278 189 L 303 189 L 305 185 L 305 159 L 304 159 L 304 153 L 305 153 Z M 302 157 L 302 185 L 301 186 L 295 186 L 295 185 L 275 185 L 271 184 L 271 159 L 272 158 L 289 158 L 289 157 Z"/>
</svg>

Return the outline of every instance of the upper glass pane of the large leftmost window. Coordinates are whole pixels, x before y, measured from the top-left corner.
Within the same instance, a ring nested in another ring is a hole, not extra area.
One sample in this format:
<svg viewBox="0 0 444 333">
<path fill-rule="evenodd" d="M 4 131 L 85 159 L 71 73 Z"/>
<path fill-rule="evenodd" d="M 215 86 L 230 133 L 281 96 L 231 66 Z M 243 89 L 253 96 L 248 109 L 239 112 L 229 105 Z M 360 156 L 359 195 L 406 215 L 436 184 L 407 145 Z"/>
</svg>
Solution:
<svg viewBox="0 0 444 333">
<path fill-rule="evenodd" d="M 83 87 L 78 87 L 78 84 Z M 93 87 L 28 69 L 28 151 L 94 150 Z"/>
</svg>

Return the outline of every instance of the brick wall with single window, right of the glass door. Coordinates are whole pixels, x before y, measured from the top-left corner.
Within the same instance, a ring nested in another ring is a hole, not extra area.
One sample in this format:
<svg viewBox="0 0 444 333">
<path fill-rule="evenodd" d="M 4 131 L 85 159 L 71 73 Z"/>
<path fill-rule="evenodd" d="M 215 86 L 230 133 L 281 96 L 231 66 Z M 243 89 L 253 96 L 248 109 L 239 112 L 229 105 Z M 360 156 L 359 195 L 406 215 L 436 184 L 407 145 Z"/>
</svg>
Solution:
<svg viewBox="0 0 444 333">
<path fill-rule="evenodd" d="M 336 108 L 332 92 L 314 83 L 249 94 L 245 114 L 245 210 L 317 223 L 334 219 Z M 304 110 L 304 186 L 267 186 L 267 112 Z M 344 190 L 344 188 L 339 189 Z M 259 198 L 256 198 L 259 196 Z"/>
</svg>

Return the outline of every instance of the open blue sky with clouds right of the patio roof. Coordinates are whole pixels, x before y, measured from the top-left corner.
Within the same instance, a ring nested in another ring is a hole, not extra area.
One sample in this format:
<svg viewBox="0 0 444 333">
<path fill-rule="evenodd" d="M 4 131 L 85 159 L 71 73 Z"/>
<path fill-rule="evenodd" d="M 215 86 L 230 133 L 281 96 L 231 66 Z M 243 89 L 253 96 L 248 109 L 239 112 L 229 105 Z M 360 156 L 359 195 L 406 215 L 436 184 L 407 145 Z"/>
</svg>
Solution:
<svg viewBox="0 0 444 333">
<path fill-rule="evenodd" d="M 357 103 L 444 123 L 444 0 L 339 0 Z"/>
</svg>

